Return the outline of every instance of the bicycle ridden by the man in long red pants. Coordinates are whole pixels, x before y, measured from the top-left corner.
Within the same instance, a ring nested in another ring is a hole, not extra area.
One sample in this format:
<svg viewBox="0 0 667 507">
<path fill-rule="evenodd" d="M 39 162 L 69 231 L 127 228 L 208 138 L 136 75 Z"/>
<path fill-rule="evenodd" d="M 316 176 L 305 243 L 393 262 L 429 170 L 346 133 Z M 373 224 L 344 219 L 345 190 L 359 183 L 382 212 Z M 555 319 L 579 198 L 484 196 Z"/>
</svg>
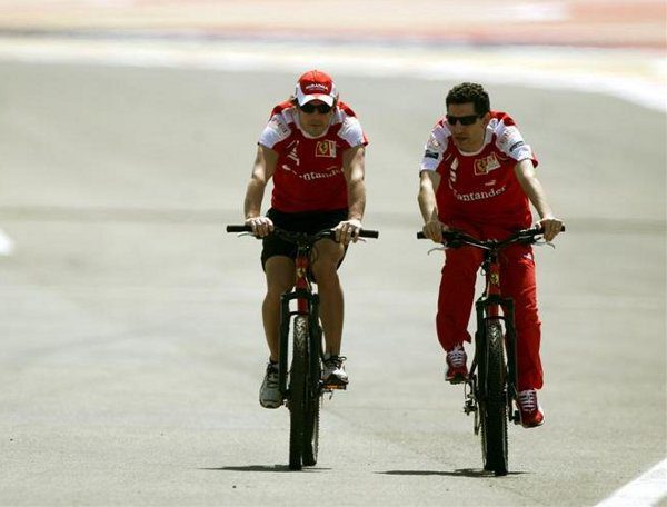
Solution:
<svg viewBox="0 0 667 507">
<path fill-rule="evenodd" d="M 501 292 L 499 252 L 514 243 L 536 243 L 541 235 L 541 229 L 525 229 L 498 241 L 480 240 L 455 230 L 442 232 L 445 248 L 468 245 L 485 252 L 481 269 L 486 284 L 475 302 L 475 357 L 466 380 L 464 411 L 475 414 L 475 435 L 481 429 L 484 469 L 496 476 L 508 471 L 507 422 L 520 424 L 519 410 L 515 410 L 515 404 L 518 406 L 515 302 Z M 426 239 L 424 232 L 418 232 L 417 238 Z"/>
</svg>

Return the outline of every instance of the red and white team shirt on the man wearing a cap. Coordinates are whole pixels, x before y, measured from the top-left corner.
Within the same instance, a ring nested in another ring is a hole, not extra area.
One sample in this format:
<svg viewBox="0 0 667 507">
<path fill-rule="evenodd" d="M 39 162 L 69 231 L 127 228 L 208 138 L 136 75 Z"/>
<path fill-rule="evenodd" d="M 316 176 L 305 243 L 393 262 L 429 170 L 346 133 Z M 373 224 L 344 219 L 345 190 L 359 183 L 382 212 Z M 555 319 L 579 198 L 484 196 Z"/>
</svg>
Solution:
<svg viewBox="0 0 667 507">
<path fill-rule="evenodd" d="M 259 143 L 278 152 L 271 207 L 283 212 L 329 211 L 348 207 L 342 152 L 368 140 L 355 112 L 338 102 L 331 125 L 318 138 L 299 126 L 289 101 L 273 108 Z"/>
</svg>

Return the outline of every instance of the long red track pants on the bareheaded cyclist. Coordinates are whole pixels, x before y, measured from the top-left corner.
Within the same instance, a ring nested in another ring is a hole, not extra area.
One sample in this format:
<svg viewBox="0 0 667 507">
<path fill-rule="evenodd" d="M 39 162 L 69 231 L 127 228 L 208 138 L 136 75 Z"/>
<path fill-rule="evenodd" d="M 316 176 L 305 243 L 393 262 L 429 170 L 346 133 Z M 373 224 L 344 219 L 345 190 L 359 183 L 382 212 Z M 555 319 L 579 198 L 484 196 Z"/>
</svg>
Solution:
<svg viewBox="0 0 667 507">
<path fill-rule="evenodd" d="M 456 223 L 455 228 L 477 238 L 502 239 L 511 232 L 498 228 L 484 227 L 480 230 L 460 226 Z M 482 258 L 482 250 L 474 247 L 446 250 L 436 316 L 438 340 L 445 350 L 451 350 L 457 344 L 470 341 L 467 328 L 475 298 L 475 282 Z M 518 389 L 539 389 L 542 387 L 542 368 L 539 359 L 540 321 L 532 248 L 527 245 L 512 245 L 501 250 L 499 258 L 502 296 L 515 301 Z"/>
</svg>

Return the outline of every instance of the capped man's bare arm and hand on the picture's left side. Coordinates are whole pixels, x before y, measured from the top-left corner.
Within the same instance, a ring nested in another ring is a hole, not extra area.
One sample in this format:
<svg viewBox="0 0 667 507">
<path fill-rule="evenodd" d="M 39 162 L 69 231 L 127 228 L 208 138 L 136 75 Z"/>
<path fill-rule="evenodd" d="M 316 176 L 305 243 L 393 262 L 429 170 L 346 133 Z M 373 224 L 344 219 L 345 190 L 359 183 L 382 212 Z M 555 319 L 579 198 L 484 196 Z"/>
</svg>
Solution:
<svg viewBox="0 0 667 507">
<path fill-rule="evenodd" d="M 267 182 L 273 176 L 278 153 L 262 145 L 257 145 L 257 156 L 252 166 L 252 175 L 246 189 L 243 213 L 246 223 L 252 227 L 252 231 L 260 237 L 267 236 L 273 230 L 273 223 L 267 217 L 261 216 L 261 201 Z"/>
</svg>

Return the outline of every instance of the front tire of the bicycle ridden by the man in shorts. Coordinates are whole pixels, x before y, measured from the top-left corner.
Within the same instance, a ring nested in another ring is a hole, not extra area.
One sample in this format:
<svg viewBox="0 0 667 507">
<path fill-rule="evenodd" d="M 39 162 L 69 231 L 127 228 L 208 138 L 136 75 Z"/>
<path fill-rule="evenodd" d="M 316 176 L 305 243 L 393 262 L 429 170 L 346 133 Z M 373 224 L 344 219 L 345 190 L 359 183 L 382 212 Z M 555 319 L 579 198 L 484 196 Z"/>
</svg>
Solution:
<svg viewBox="0 0 667 507">
<path fill-rule="evenodd" d="M 293 322 L 292 362 L 289 372 L 289 468 L 301 469 L 308 411 L 308 318 Z"/>
</svg>

